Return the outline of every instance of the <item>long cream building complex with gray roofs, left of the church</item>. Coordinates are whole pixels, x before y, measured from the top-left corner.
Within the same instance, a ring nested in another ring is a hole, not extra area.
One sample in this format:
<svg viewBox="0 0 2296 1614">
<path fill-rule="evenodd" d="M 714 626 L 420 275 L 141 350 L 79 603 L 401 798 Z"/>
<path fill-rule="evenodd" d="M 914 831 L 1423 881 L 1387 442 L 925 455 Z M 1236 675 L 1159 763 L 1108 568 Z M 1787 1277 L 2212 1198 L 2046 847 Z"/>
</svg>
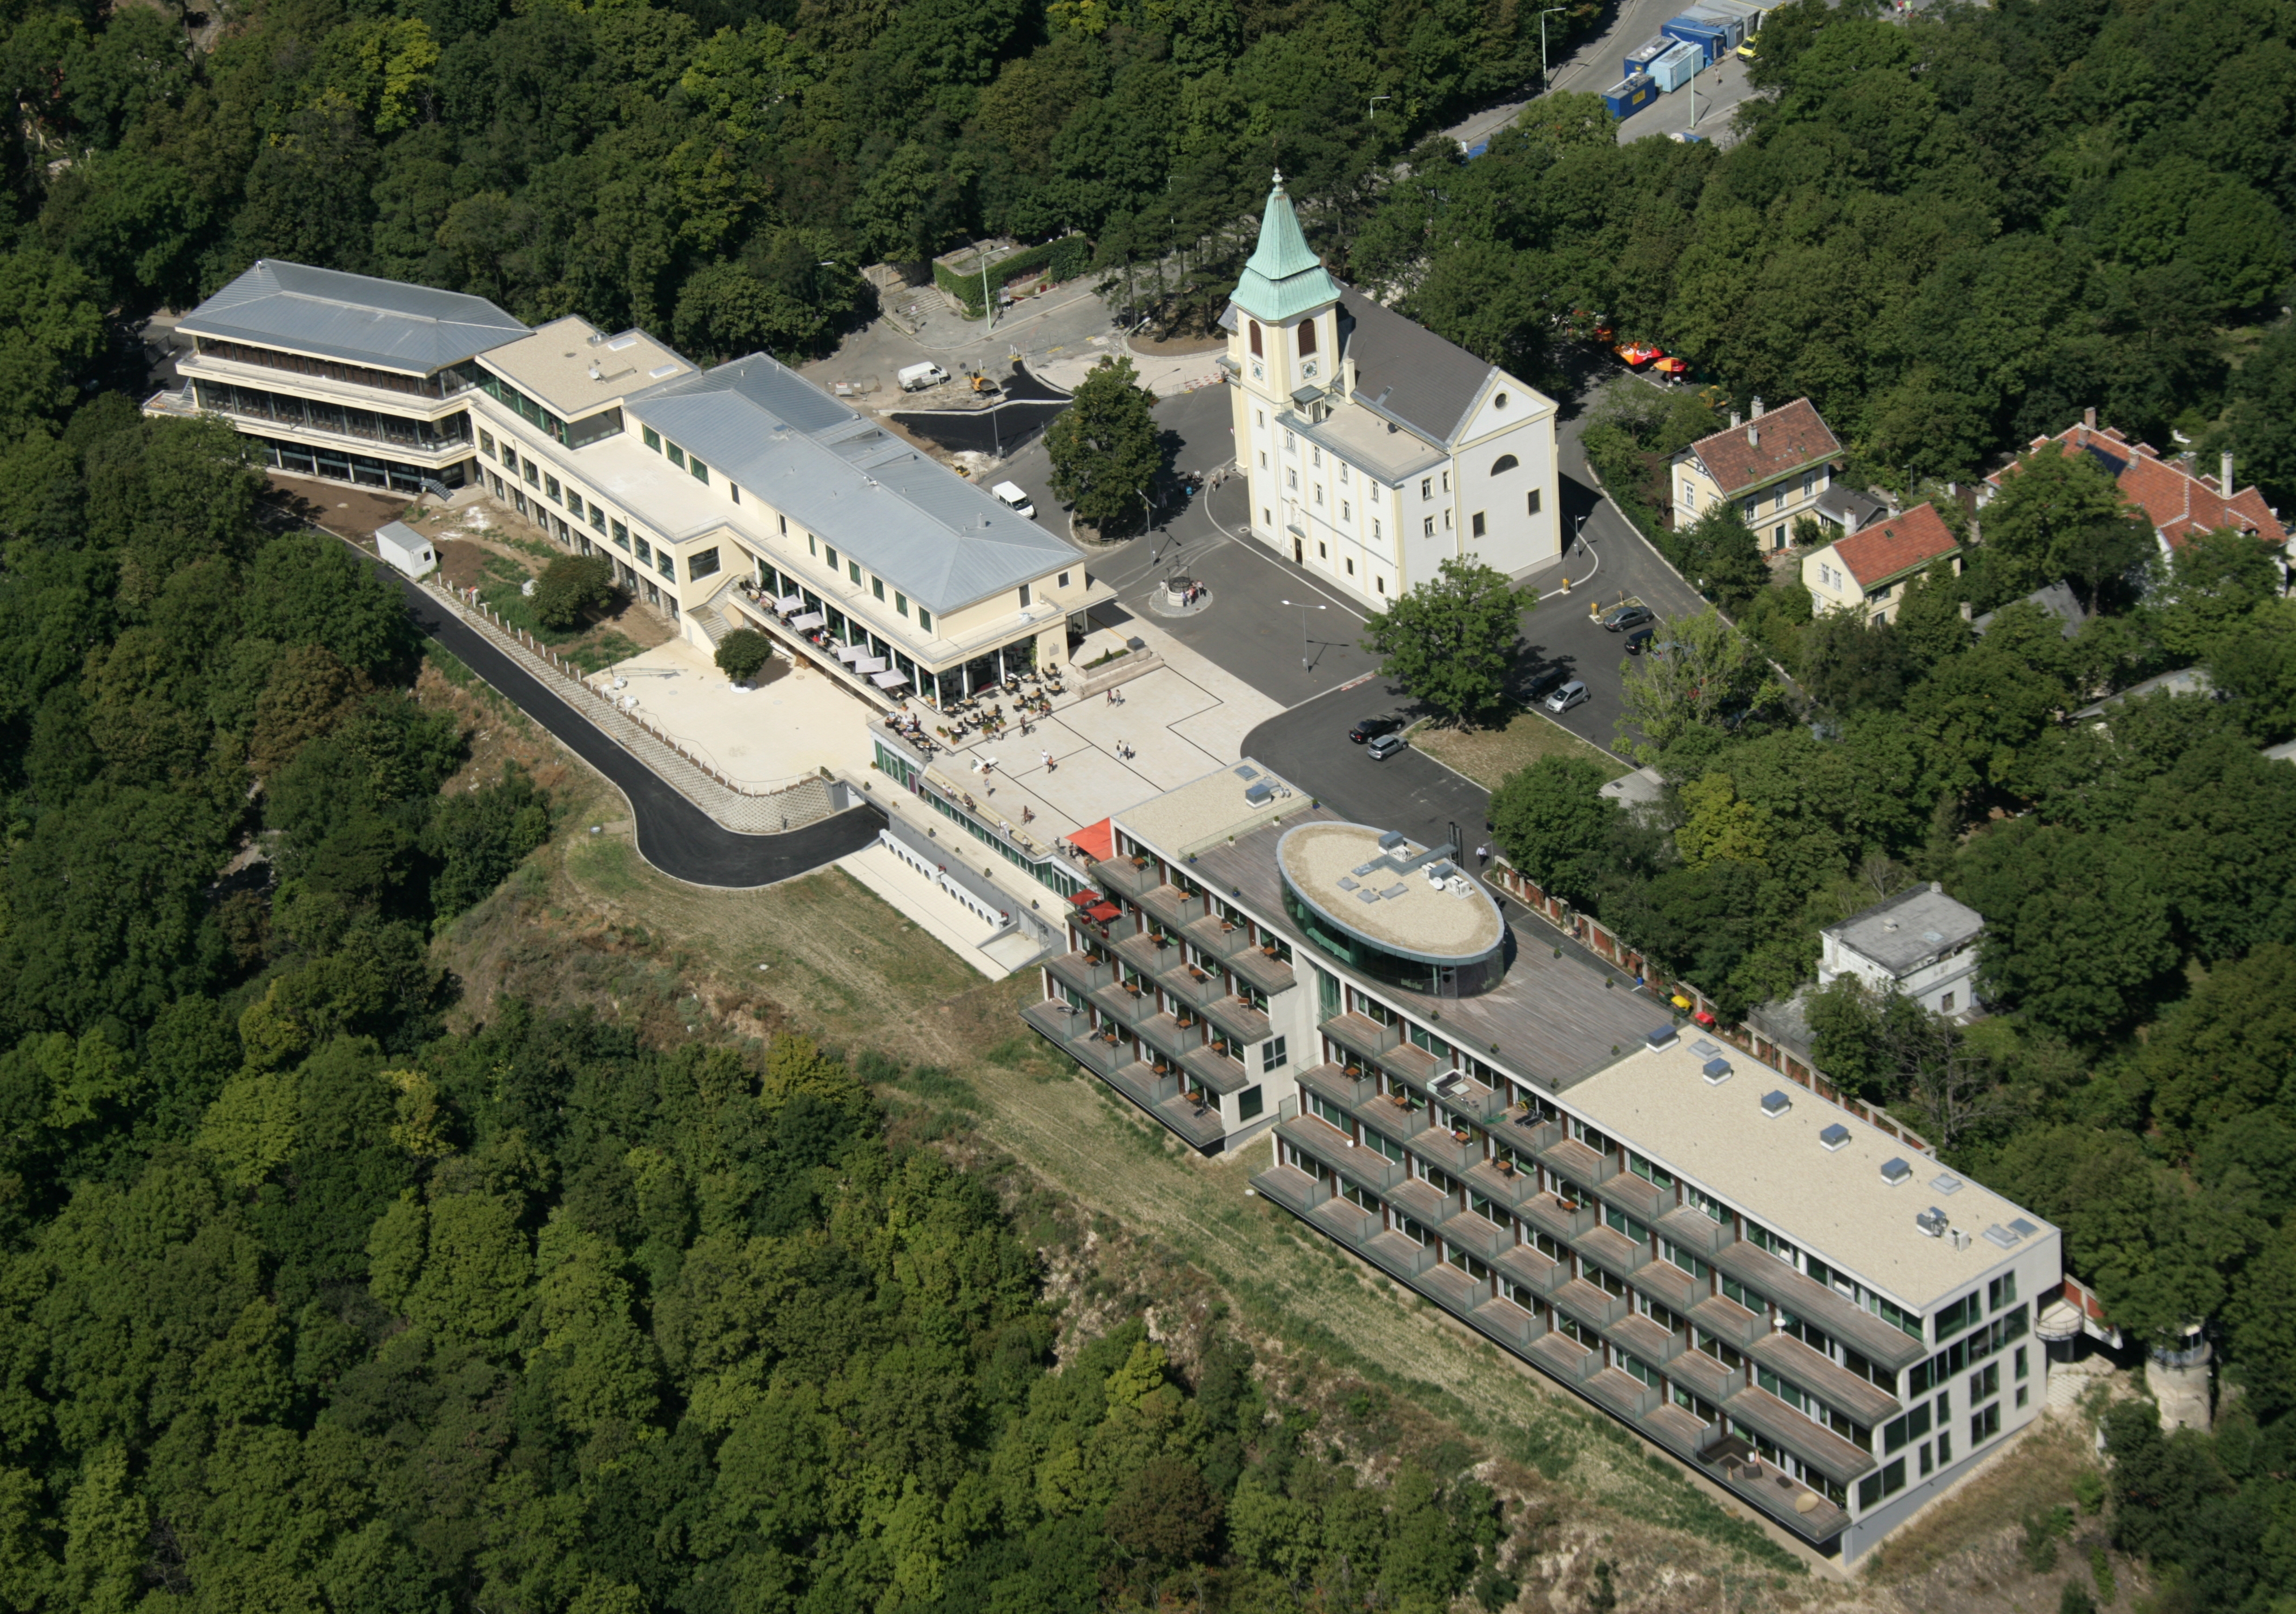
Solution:
<svg viewBox="0 0 2296 1614">
<path fill-rule="evenodd" d="M 714 645 L 735 627 L 882 705 L 1068 657 L 1114 599 L 1084 553 L 765 354 L 703 370 L 643 331 L 257 262 L 177 326 L 186 386 L 296 475 L 484 487 Z"/>
</svg>

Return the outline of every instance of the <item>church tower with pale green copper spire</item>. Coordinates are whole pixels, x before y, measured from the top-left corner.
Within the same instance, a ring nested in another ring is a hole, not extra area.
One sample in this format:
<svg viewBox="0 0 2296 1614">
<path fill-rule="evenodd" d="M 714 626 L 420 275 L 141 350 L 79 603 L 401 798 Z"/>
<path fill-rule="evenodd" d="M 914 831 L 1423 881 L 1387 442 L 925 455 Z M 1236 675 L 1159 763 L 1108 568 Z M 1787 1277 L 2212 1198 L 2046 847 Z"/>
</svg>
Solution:
<svg viewBox="0 0 2296 1614">
<path fill-rule="evenodd" d="M 1251 530 L 1300 558 L 1300 475 L 1286 464 L 1277 420 L 1339 386 L 1339 280 L 1309 250 L 1300 216 L 1274 177 L 1261 239 L 1235 285 L 1228 365 L 1235 377 L 1235 464 L 1251 484 Z M 1297 452 L 1293 452 L 1297 459 Z"/>
</svg>

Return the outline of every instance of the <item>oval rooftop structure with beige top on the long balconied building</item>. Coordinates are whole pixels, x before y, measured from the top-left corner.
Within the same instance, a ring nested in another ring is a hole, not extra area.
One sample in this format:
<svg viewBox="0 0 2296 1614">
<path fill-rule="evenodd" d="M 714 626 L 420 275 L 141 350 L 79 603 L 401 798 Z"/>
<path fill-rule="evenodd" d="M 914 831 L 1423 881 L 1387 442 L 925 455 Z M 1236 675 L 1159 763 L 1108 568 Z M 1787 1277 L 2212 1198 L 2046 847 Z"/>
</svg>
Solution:
<svg viewBox="0 0 2296 1614">
<path fill-rule="evenodd" d="M 1300 824 L 1277 840 L 1283 911 L 1332 957 L 1430 996 L 1506 973 L 1506 923 L 1449 856 L 1368 824 Z"/>
</svg>

